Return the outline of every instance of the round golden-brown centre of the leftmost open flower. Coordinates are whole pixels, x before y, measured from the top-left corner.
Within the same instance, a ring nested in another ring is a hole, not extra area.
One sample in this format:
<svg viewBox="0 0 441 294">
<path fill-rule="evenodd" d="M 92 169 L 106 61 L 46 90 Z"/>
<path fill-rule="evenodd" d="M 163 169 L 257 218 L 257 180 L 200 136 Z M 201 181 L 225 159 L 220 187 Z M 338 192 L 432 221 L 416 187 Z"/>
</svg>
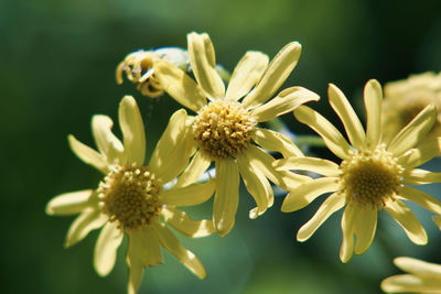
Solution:
<svg viewBox="0 0 441 294">
<path fill-rule="evenodd" d="M 139 230 L 158 218 L 162 188 L 147 166 L 118 166 L 99 183 L 103 210 L 110 221 L 119 221 L 120 229 Z"/>
</svg>

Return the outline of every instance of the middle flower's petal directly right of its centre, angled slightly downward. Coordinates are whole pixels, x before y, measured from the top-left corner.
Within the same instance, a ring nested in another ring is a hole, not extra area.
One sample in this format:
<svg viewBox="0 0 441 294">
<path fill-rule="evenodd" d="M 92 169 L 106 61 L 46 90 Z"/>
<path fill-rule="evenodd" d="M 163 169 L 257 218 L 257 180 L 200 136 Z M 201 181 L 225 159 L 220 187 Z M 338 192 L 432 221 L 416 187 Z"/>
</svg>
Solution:
<svg viewBox="0 0 441 294">
<path fill-rule="evenodd" d="M 281 153 L 284 157 L 303 156 L 302 151 L 284 134 L 267 129 L 256 128 L 252 141 L 265 150 Z"/>
</svg>

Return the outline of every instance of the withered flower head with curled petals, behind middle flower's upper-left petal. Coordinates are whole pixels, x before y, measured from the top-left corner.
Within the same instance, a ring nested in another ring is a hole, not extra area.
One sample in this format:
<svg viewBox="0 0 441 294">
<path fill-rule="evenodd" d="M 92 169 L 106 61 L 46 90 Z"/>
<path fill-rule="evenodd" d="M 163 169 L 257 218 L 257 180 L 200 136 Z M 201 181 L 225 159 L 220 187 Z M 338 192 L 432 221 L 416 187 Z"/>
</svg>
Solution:
<svg viewBox="0 0 441 294">
<path fill-rule="evenodd" d="M 165 59 L 175 66 L 186 69 L 189 55 L 182 48 L 162 47 L 154 51 L 139 50 L 130 53 L 119 63 L 116 72 L 118 85 L 122 84 L 122 73 L 126 72 L 127 79 L 137 84 L 137 89 L 143 96 L 155 98 L 164 90 L 161 83 L 154 75 L 153 64 L 158 59 Z"/>
</svg>

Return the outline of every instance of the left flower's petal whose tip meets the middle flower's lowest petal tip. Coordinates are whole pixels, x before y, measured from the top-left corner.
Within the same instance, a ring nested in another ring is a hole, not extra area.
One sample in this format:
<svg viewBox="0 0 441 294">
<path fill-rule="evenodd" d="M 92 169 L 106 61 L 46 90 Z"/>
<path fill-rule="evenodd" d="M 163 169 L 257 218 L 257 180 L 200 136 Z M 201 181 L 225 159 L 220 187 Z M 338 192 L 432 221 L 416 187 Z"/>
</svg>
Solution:
<svg viewBox="0 0 441 294">
<path fill-rule="evenodd" d="M 193 220 L 187 214 L 173 207 L 163 208 L 161 217 L 166 224 L 191 238 L 205 237 L 215 231 L 212 220 Z"/>
</svg>

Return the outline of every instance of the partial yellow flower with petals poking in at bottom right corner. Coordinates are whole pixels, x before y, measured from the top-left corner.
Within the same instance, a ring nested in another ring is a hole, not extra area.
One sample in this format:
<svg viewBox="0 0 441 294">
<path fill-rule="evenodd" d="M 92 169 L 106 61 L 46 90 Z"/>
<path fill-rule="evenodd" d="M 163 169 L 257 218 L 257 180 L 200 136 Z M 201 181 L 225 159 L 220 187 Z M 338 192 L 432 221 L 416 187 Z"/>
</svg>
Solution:
<svg viewBox="0 0 441 294">
<path fill-rule="evenodd" d="M 418 259 L 400 257 L 394 263 L 408 274 L 385 279 L 381 290 L 386 293 L 441 293 L 441 265 Z"/>
</svg>

